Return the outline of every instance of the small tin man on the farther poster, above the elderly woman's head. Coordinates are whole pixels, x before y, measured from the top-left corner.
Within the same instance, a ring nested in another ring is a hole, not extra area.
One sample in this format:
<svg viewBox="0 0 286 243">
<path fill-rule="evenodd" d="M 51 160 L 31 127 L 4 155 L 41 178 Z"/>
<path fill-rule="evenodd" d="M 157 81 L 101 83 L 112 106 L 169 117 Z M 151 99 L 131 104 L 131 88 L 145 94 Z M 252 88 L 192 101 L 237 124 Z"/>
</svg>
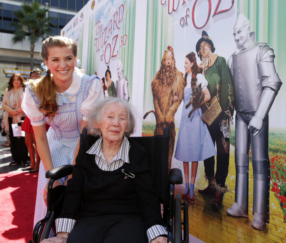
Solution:
<svg viewBox="0 0 286 243">
<path fill-rule="evenodd" d="M 122 62 L 119 59 L 117 65 L 117 75 L 118 79 L 116 80 L 116 97 L 125 99 L 127 102 L 129 101 L 129 92 L 128 92 L 128 79 L 123 75 Z"/>
</svg>

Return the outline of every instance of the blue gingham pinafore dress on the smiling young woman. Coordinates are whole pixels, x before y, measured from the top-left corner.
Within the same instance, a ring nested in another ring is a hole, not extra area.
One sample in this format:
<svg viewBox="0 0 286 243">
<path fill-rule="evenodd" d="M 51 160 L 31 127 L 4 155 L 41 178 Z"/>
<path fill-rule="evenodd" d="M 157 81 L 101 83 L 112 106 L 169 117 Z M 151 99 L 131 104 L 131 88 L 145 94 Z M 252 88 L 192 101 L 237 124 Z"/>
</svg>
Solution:
<svg viewBox="0 0 286 243">
<path fill-rule="evenodd" d="M 58 114 L 56 114 L 52 120 L 50 120 L 49 117 L 44 117 L 45 122 L 51 126 L 47 132 L 47 138 L 54 168 L 61 165 L 72 164 L 74 160 L 74 153 L 79 141 L 81 121 L 83 118 L 81 107 L 83 101 L 88 97 L 88 91 L 92 82 L 100 82 L 100 80 L 96 75 L 91 77 L 83 75 L 80 88 L 77 92 L 73 94 L 67 92 L 57 93 L 57 95 L 59 95 L 57 99 Z M 35 93 L 30 89 L 29 92 L 33 100 L 40 105 Z M 73 102 L 69 103 L 67 96 L 74 96 L 72 98 Z M 43 200 L 43 190 L 48 181 L 45 174 L 46 170 L 41 162 L 38 176 L 34 226 L 38 221 L 44 218 L 47 211 Z M 67 177 L 60 179 L 60 182 L 63 184 L 66 178 Z"/>
</svg>

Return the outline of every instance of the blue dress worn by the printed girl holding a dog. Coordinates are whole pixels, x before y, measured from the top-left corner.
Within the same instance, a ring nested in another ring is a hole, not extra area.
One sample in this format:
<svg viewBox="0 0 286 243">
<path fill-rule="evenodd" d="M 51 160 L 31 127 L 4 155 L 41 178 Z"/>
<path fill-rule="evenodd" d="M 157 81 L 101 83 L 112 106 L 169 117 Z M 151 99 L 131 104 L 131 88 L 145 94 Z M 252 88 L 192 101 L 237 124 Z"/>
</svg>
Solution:
<svg viewBox="0 0 286 243">
<path fill-rule="evenodd" d="M 181 115 L 175 158 L 184 162 L 205 160 L 216 155 L 209 130 L 202 121 L 202 111 L 196 109 L 189 118 L 193 106 L 186 109 L 192 98 L 192 88 L 184 89 L 184 106 Z"/>
</svg>

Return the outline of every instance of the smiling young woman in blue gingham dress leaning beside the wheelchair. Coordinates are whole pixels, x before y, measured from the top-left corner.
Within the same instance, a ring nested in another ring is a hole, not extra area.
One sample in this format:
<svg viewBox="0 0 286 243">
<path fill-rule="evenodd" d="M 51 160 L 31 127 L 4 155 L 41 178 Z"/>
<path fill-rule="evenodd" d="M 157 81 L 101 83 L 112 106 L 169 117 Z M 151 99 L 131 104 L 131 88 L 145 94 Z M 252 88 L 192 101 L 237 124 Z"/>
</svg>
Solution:
<svg viewBox="0 0 286 243">
<path fill-rule="evenodd" d="M 75 71 L 77 45 L 73 40 L 50 36 L 42 41 L 41 55 L 48 68 L 46 77 L 30 80 L 21 106 L 31 120 L 42 162 L 34 225 L 46 214 L 46 171 L 74 163 L 90 107 L 103 98 L 96 75 L 90 77 Z M 51 126 L 47 133 L 45 122 Z M 66 179 L 57 180 L 54 185 L 61 185 Z"/>
</svg>

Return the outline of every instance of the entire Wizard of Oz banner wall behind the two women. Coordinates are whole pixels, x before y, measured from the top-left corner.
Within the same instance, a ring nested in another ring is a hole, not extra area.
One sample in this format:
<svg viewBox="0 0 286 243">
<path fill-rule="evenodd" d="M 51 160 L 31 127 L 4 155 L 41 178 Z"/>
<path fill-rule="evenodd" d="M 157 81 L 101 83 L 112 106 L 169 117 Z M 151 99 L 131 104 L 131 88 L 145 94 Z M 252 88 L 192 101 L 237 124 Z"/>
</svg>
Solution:
<svg viewBox="0 0 286 243">
<path fill-rule="evenodd" d="M 190 242 L 286 239 L 285 9 L 284 0 L 96 0 L 61 31 L 105 97 L 135 106 L 134 135 L 169 126 Z"/>
</svg>

